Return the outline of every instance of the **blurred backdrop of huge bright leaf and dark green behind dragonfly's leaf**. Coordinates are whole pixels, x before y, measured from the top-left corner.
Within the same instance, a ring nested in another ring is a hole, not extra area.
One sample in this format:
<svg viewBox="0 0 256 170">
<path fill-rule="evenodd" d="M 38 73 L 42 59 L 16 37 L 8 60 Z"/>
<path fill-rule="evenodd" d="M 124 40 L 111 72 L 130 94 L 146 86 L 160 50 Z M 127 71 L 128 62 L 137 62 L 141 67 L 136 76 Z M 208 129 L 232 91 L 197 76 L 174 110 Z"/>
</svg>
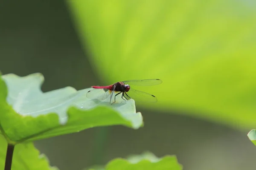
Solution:
<svg viewBox="0 0 256 170">
<path fill-rule="evenodd" d="M 44 74 L 43 91 L 160 78 L 138 88 L 145 126 L 101 127 L 35 142 L 52 165 L 81 170 L 150 150 L 188 170 L 255 167 L 256 2 L 3 1 L 0 70 Z"/>
</svg>

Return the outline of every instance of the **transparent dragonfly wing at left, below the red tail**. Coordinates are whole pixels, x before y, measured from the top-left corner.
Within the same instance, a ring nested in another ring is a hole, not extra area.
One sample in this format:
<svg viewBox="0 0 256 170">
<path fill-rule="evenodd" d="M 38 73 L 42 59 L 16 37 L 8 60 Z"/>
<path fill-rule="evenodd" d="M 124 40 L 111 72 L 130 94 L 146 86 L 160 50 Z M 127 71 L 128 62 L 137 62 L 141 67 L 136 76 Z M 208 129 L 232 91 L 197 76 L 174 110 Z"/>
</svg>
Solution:
<svg viewBox="0 0 256 170">
<path fill-rule="evenodd" d="M 102 88 L 94 88 L 87 92 L 86 97 L 89 99 L 98 99 L 98 100 L 105 100 L 110 96 L 110 90 L 104 90 Z"/>
</svg>

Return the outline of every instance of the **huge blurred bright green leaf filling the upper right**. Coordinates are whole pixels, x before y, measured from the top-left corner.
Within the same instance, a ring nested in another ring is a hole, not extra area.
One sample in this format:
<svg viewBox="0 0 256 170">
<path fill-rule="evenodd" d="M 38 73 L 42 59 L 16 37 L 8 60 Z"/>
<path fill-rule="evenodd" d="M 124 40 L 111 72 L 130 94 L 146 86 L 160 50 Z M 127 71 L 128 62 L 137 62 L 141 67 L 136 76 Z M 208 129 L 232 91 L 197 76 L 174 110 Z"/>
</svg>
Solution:
<svg viewBox="0 0 256 170">
<path fill-rule="evenodd" d="M 106 84 L 162 79 L 161 85 L 136 87 L 157 96 L 147 108 L 255 126 L 254 1 L 68 2 L 90 62 Z"/>
</svg>

